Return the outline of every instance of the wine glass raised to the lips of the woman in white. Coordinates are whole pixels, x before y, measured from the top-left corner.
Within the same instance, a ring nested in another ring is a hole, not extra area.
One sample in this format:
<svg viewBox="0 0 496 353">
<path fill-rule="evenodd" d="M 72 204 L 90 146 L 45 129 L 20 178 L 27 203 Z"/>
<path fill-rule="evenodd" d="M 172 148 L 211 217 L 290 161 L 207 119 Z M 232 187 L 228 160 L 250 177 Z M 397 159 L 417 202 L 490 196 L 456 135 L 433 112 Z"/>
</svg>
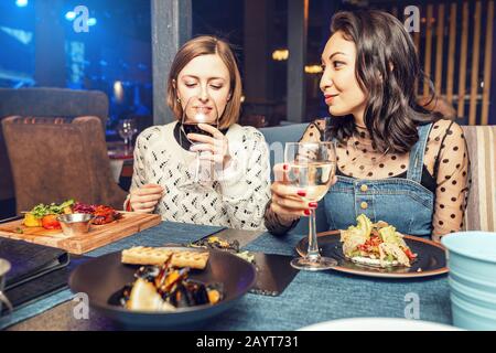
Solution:
<svg viewBox="0 0 496 353">
<path fill-rule="evenodd" d="M 218 110 L 215 101 L 208 96 L 200 97 L 193 96 L 191 97 L 186 106 L 183 109 L 183 117 L 181 119 L 181 133 L 180 139 L 187 139 L 187 141 L 193 145 L 200 145 L 202 142 L 191 140 L 187 138 L 188 133 L 198 133 L 203 136 L 212 137 L 212 133 L 202 130 L 198 127 L 198 124 L 206 124 L 218 129 Z M 181 141 L 183 145 L 183 141 Z M 193 172 L 193 184 L 196 188 L 197 185 L 207 186 L 208 183 L 213 180 L 214 174 L 214 165 L 208 160 L 201 160 L 201 154 L 211 153 L 208 151 L 200 152 L 196 151 L 196 158 L 194 160 L 194 172 Z"/>
</svg>

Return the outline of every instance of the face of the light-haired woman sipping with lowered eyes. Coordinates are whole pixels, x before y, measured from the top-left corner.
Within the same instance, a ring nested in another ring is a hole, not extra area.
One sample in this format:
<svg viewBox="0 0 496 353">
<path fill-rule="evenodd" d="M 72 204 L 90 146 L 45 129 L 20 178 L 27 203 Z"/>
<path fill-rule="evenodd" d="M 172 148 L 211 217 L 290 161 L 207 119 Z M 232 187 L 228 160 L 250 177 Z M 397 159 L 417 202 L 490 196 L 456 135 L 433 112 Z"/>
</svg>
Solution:
<svg viewBox="0 0 496 353">
<path fill-rule="evenodd" d="M 217 54 L 196 56 L 187 63 L 176 83 L 177 98 L 186 116 L 191 119 L 200 114 L 204 119 L 201 122 L 220 118 L 230 99 L 229 78 L 229 71 Z"/>
</svg>

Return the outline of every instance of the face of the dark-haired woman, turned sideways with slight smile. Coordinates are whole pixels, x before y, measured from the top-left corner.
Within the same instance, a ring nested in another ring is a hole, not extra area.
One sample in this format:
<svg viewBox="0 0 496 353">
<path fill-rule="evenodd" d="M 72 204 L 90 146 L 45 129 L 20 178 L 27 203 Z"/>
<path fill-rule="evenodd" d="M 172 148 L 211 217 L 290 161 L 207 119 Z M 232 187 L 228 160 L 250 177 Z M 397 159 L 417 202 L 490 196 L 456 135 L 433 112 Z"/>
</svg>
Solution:
<svg viewBox="0 0 496 353">
<path fill-rule="evenodd" d="M 345 40 L 343 32 L 334 33 L 322 53 L 324 73 L 321 90 L 333 116 L 354 115 L 363 121 L 366 95 L 355 76 L 356 46 Z"/>
</svg>

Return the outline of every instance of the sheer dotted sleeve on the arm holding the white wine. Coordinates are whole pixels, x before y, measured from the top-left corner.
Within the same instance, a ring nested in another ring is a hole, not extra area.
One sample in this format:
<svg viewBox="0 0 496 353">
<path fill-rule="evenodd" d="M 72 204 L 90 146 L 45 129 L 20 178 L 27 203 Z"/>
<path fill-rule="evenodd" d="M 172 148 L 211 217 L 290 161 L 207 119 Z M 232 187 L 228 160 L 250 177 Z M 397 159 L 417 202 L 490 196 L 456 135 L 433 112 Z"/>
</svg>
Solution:
<svg viewBox="0 0 496 353">
<path fill-rule="evenodd" d="M 320 141 L 321 140 L 321 131 L 323 131 L 324 127 L 324 120 L 317 119 L 313 122 L 309 124 L 305 131 L 303 132 L 300 142 L 306 142 L 306 141 Z M 278 216 L 277 213 L 272 211 L 270 207 L 270 203 L 272 201 L 269 201 L 266 206 L 266 213 L 265 213 L 265 224 L 267 227 L 267 231 L 274 235 L 283 235 L 294 228 L 300 222 L 300 218 L 293 218 L 293 220 L 285 220 Z"/>
</svg>

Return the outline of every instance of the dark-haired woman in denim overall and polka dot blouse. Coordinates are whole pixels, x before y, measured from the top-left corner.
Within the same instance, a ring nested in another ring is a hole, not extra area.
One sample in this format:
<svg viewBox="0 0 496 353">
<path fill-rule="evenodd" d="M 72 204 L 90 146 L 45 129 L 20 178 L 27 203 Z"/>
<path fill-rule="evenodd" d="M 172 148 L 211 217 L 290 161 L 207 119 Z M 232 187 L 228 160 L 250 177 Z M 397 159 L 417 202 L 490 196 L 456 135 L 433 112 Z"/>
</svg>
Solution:
<svg viewBox="0 0 496 353">
<path fill-rule="evenodd" d="M 421 69 L 410 35 L 380 11 L 337 13 L 331 32 L 320 87 L 332 118 L 310 124 L 302 137 L 315 141 L 327 132 L 337 141 L 337 178 L 324 199 L 330 227 L 347 228 L 365 214 L 435 240 L 459 231 L 468 190 L 466 143 L 456 122 L 416 104 Z M 276 165 L 276 174 L 283 167 Z M 271 189 L 271 233 L 288 232 L 316 206 L 282 181 Z"/>
</svg>

